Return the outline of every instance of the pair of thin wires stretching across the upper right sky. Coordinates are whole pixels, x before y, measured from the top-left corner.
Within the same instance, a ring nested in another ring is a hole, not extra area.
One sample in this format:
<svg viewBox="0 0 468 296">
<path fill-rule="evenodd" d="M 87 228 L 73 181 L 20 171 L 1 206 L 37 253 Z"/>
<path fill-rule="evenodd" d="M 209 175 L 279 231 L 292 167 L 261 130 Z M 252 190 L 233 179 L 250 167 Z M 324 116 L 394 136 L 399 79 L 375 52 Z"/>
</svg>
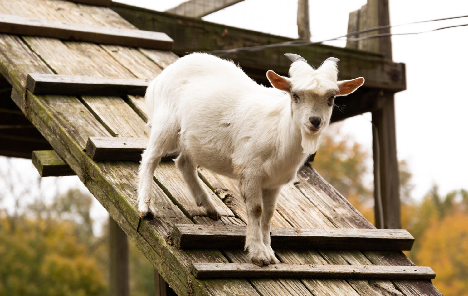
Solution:
<svg viewBox="0 0 468 296">
<path fill-rule="evenodd" d="M 426 31 L 420 31 L 420 32 L 382 33 L 382 34 L 362 36 L 362 37 L 358 37 L 358 38 L 348 38 L 350 36 L 355 36 L 355 35 L 359 35 L 359 34 L 363 34 L 363 33 L 367 33 L 367 32 L 372 32 L 372 31 L 380 30 L 380 29 L 387 29 L 387 28 L 417 24 L 417 23 L 424 23 L 424 22 L 437 22 L 437 21 L 452 20 L 452 19 L 458 19 L 458 18 L 463 18 L 463 17 L 468 17 L 468 15 L 453 16 L 453 17 L 434 19 L 434 20 L 428 20 L 428 21 L 409 22 L 409 23 L 398 24 L 398 25 L 380 26 L 380 27 L 375 27 L 375 28 L 370 28 L 370 29 L 364 29 L 364 30 L 351 32 L 351 33 L 348 33 L 348 34 L 343 35 L 343 36 L 338 36 L 338 37 L 335 37 L 335 38 L 325 39 L 325 40 L 321 40 L 321 41 L 290 40 L 290 41 L 281 42 L 281 43 L 272 43 L 272 44 L 249 46 L 249 47 L 239 47 L 239 48 L 233 48 L 233 49 L 228 49 L 228 50 L 217 50 L 217 51 L 207 51 L 207 52 L 208 53 L 213 53 L 213 54 L 226 54 L 226 53 L 237 52 L 237 51 L 261 51 L 263 49 L 272 48 L 272 47 L 286 47 L 286 46 L 289 47 L 289 46 L 304 46 L 304 45 L 320 44 L 320 43 L 323 43 L 323 42 L 326 42 L 326 41 L 339 40 L 340 38 L 344 38 L 344 37 L 346 37 L 347 40 L 350 40 L 350 41 L 358 41 L 358 40 L 363 40 L 363 39 L 380 38 L 380 37 L 394 36 L 394 35 L 396 36 L 396 35 L 422 34 L 422 33 L 427 33 L 427 32 L 443 30 L 443 29 L 450 29 L 450 28 L 455 28 L 455 27 L 468 26 L 468 24 L 453 25 L 453 26 L 447 26 L 447 27 L 442 27 L 442 28 L 438 28 L 438 29 L 431 29 L 431 30 L 426 30 Z"/>
</svg>

